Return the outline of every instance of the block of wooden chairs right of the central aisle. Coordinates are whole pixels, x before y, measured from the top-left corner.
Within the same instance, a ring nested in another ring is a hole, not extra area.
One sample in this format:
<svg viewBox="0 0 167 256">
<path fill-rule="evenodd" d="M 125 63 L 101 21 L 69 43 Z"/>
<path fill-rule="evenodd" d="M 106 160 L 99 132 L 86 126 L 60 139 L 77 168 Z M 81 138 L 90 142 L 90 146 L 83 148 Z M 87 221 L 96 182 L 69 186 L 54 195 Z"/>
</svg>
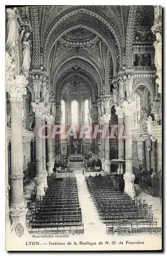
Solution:
<svg viewBox="0 0 167 256">
<path fill-rule="evenodd" d="M 115 190 L 112 176 L 85 180 L 107 233 L 160 232 L 161 228 L 153 221 L 152 206 L 145 200 L 142 202 L 137 197 L 132 200 L 123 191 Z"/>
</svg>

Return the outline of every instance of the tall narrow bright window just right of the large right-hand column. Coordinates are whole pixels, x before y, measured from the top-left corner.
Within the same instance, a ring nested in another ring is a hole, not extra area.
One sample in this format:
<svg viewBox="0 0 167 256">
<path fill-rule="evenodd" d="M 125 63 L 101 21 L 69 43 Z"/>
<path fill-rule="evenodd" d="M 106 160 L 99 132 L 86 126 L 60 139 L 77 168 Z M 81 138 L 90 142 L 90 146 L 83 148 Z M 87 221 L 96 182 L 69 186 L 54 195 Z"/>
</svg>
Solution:
<svg viewBox="0 0 167 256">
<path fill-rule="evenodd" d="M 141 99 L 140 96 L 135 93 L 135 105 L 134 109 L 132 110 L 132 128 L 135 129 L 137 128 L 138 122 L 141 118 Z"/>
</svg>

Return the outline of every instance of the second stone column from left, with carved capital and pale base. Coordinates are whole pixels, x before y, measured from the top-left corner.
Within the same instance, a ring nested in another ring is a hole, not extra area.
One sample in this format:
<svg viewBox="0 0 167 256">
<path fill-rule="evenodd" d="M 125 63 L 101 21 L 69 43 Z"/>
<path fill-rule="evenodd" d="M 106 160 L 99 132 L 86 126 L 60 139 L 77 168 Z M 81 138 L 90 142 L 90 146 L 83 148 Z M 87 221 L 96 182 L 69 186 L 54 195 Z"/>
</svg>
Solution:
<svg viewBox="0 0 167 256">
<path fill-rule="evenodd" d="M 38 132 L 41 129 L 42 118 L 46 113 L 46 108 L 42 102 L 32 102 L 33 112 L 35 112 L 35 154 L 36 154 L 36 177 L 35 177 L 35 193 L 36 198 L 44 196 L 44 177 L 42 163 L 42 138 Z"/>
</svg>

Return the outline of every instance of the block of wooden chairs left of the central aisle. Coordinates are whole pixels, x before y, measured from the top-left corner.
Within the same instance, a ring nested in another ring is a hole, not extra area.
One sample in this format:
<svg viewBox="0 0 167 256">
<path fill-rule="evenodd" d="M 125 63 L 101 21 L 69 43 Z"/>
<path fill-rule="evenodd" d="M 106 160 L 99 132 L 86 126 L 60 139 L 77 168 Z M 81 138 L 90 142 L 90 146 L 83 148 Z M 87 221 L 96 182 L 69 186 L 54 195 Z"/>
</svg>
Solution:
<svg viewBox="0 0 167 256">
<path fill-rule="evenodd" d="M 64 232 L 72 230 L 73 232 L 76 230 L 78 233 L 83 233 L 76 177 L 56 178 L 51 176 L 47 178 L 47 184 L 45 196 L 40 200 L 35 199 L 28 202 L 30 214 L 27 218 L 32 231 L 47 231 L 47 227 L 52 225 L 52 228 L 49 227 L 51 232 L 62 230 Z M 64 228 L 66 225 L 68 225 L 68 229 Z M 79 229 L 77 225 L 79 225 Z"/>
</svg>

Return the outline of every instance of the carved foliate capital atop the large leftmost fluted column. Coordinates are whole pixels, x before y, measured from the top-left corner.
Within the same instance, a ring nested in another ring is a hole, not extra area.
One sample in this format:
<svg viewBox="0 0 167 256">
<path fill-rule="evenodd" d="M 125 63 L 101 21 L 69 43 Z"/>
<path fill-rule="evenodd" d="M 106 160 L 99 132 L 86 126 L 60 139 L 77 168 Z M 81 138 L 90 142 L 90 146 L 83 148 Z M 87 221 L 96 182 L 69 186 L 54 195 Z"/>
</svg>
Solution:
<svg viewBox="0 0 167 256">
<path fill-rule="evenodd" d="M 10 94 L 10 101 L 22 101 L 22 96 L 27 94 L 25 76 L 16 76 L 6 84 L 6 91 Z"/>
</svg>

